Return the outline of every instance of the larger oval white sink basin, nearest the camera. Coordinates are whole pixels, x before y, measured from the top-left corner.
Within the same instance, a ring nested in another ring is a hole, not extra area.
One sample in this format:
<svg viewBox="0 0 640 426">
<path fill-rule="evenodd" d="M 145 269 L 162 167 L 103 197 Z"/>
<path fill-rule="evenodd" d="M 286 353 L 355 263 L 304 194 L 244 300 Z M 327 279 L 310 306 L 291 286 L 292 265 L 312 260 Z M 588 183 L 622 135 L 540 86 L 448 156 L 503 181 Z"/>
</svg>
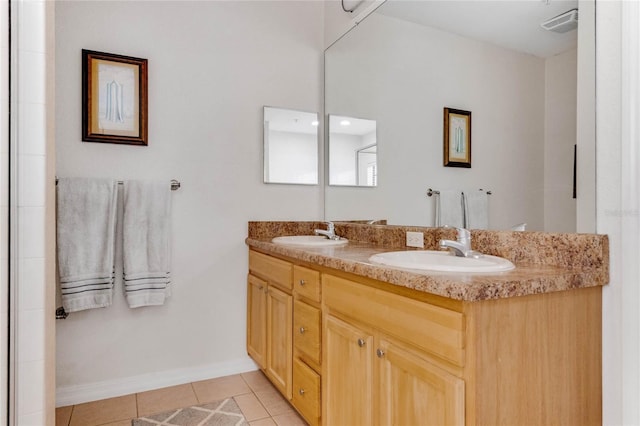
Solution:
<svg viewBox="0 0 640 426">
<path fill-rule="evenodd" d="M 501 272 L 515 268 L 502 257 L 483 255 L 478 259 L 452 256 L 448 251 L 411 250 L 379 253 L 370 262 L 399 268 L 445 272 Z"/>
</svg>

